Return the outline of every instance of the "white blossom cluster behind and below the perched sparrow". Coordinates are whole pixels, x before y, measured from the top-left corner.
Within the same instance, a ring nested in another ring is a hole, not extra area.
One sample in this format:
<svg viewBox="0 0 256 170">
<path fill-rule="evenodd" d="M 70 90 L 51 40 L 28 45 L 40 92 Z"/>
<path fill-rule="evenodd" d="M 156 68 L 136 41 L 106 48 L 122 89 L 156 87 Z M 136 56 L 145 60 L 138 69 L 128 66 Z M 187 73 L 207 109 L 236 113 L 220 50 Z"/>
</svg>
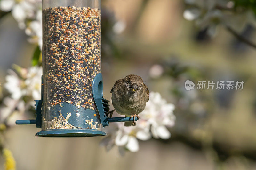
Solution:
<svg viewBox="0 0 256 170">
<path fill-rule="evenodd" d="M 167 127 L 175 125 L 173 110 L 175 106 L 167 103 L 158 92 L 149 93 L 146 108 L 139 114 L 140 120 L 136 126 L 124 126 L 124 122 L 113 123 L 112 127 L 105 128 L 109 136 L 102 140 L 107 150 L 114 145 L 119 146 L 119 151 L 128 149 L 131 152 L 139 150 L 139 140 L 150 138 L 168 139 L 171 137 Z M 116 125 L 115 128 L 113 126 Z M 112 129 L 111 129 L 112 128 Z"/>
</svg>

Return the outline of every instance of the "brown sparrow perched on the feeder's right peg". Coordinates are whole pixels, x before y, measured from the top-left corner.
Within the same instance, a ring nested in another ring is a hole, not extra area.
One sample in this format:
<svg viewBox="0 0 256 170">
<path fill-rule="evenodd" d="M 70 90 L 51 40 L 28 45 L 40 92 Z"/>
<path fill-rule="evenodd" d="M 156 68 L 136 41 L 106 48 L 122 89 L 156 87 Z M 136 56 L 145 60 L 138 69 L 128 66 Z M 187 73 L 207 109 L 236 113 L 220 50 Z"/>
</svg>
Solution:
<svg viewBox="0 0 256 170">
<path fill-rule="evenodd" d="M 149 91 L 140 76 L 130 74 L 116 81 L 112 87 L 112 104 L 117 113 L 133 117 L 133 122 L 125 122 L 125 126 L 135 125 L 135 117 L 144 110 L 149 99 Z M 113 113 L 114 110 L 111 112 Z"/>
</svg>

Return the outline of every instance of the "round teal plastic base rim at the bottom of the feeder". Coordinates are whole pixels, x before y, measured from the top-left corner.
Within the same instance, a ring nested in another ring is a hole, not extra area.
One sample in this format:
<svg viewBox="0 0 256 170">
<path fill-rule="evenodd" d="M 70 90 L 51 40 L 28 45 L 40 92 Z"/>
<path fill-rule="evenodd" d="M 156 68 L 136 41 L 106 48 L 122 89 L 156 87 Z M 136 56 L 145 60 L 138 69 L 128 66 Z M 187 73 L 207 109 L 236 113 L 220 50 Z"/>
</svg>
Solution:
<svg viewBox="0 0 256 170">
<path fill-rule="evenodd" d="M 36 136 L 44 137 L 89 137 L 104 135 L 106 135 L 105 132 L 96 129 L 53 129 L 36 133 Z"/>
</svg>

